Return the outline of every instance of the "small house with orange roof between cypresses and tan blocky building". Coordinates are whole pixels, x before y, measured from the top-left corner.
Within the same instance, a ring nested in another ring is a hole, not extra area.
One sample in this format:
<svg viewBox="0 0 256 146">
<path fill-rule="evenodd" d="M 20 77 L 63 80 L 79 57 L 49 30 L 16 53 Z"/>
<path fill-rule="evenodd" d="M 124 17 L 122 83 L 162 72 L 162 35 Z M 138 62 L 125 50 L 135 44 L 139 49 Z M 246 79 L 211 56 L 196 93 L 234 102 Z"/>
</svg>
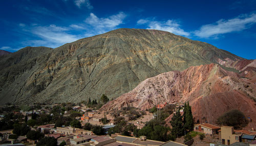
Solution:
<svg viewBox="0 0 256 146">
<path fill-rule="evenodd" d="M 194 125 L 194 131 L 203 132 L 205 134 L 218 134 L 221 128 L 208 123 Z"/>
</svg>

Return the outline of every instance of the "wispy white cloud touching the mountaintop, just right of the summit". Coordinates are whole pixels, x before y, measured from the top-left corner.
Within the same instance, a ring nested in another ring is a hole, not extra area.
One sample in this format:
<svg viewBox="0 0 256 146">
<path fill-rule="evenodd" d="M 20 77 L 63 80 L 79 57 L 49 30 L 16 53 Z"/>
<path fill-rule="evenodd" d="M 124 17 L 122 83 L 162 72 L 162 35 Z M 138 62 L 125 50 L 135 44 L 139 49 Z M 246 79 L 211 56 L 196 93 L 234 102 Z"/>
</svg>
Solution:
<svg viewBox="0 0 256 146">
<path fill-rule="evenodd" d="M 185 32 L 183 29 L 181 29 L 180 24 L 175 20 L 155 21 L 140 19 L 137 21 L 137 24 L 146 24 L 147 29 L 150 30 L 161 30 L 185 37 L 188 37 L 190 35 L 188 32 Z"/>
</svg>

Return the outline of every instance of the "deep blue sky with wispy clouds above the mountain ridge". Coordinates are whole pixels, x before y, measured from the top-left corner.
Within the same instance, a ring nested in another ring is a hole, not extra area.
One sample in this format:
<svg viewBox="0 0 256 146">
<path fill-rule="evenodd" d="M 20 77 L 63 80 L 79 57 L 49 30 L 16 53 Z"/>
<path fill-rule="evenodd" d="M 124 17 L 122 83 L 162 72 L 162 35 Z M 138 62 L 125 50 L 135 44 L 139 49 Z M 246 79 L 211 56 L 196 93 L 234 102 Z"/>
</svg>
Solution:
<svg viewBox="0 0 256 146">
<path fill-rule="evenodd" d="M 168 31 L 256 59 L 256 0 L 0 2 L 0 49 L 56 48 L 117 28 Z"/>
</svg>

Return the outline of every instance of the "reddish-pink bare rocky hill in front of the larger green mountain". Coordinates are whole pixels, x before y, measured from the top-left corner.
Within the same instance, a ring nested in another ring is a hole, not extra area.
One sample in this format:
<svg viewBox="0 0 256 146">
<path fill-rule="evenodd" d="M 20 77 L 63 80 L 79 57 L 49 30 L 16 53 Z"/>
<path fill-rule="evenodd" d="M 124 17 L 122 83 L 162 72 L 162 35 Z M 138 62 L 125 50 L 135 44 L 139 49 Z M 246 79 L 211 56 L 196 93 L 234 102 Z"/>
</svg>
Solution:
<svg viewBox="0 0 256 146">
<path fill-rule="evenodd" d="M 255 65 L 256 60 L 252 64 Z M 189 102 L 195 122 L 215 123 L 231 109 L 241 110 L 252 121 L 256 119 L 256 70 L 247 65 L 234 73 L 220 65 L 209 64 L 170 71 L 142 81 L 134 90 L 103 105 L 100 110 L 111 111 L 125 106 L 141 110 L 157 104 Z M 244 73 L 247 72 L 247 73 Z M 250 74 L 245 77 L 244 75 Z M 249 127 L 256 128 L 251 122 Z"/>
</svg>

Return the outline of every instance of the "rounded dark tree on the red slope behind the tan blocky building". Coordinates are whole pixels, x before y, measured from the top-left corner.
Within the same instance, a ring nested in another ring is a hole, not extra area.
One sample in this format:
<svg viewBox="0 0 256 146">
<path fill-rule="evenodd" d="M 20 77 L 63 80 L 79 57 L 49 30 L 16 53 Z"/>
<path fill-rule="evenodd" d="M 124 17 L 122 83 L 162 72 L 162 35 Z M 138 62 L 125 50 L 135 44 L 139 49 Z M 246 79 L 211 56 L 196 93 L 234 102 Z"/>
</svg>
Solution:
<svg viewBox="0 0 256 146">
<path fill-rule="evenodd" d="M 248 120 L 246 119 L 243 112 L 234 109 L 225 112 L 218 119 L 217 123 L 224 126 L 232 126 L 234 129 L 242 129 L 247 126 Z"/>
</svg>

